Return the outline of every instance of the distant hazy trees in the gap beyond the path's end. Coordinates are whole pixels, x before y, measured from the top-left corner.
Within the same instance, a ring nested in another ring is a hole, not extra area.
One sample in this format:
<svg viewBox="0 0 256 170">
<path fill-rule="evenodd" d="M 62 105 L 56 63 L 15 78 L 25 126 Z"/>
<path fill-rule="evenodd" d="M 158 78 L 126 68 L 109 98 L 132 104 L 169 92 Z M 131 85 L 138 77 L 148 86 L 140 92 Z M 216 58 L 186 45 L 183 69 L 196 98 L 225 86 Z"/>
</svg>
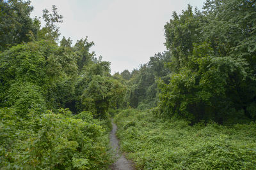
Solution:
<svg viewBox="0 0 256 170">
<path fill-rule="evenodd" d="M 113 74 L 113 78 L 127 87 L 123 103 L 120 104 L 121 108 L 130 106 L 147 109 L 157 106 L 159 90 L 156 80 L 163 78 L 168 81 L 170 70 L 164 65 L 170 61 L 170 52 L 157 53 L 154 57 L 150 57 L 147 64 L 141 65 L 131 73 L 126 69 L 122 73 Z"/>
</svg>

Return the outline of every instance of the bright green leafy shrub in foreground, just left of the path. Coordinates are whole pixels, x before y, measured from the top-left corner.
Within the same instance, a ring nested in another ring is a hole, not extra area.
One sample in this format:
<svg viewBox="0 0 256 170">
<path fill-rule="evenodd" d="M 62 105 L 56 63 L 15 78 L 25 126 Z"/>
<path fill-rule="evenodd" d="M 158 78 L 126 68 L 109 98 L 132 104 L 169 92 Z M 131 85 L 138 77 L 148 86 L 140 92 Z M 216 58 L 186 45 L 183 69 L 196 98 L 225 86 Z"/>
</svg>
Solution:
<svg viewBox="0 0 256 170">
<path fill-rule="evenodd" d="M 43 126 L 38 136 L 30 139 L 31 162 L 28 164 L 47 169 L 97 169 L 108 166 L 105 162 L 108 160 L 108 141 L 102 138 L 104 131 L 99 125 L 54 113 L 42 115 L 40 123 Z"/>
</svg>

